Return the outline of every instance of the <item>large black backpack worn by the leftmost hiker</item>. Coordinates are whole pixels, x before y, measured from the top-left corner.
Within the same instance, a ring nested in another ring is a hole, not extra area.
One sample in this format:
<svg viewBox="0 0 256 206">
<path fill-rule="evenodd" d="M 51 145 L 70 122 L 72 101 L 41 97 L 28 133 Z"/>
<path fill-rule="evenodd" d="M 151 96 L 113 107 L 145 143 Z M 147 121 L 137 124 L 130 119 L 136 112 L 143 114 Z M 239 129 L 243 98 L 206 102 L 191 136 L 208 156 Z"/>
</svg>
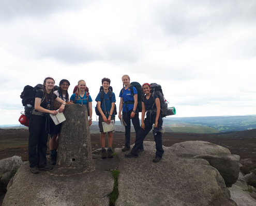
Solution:
<svg viewBox="0 0 256 206">
<path fill-rule="evenodd" d="M 42 84 L 37 84 L 35 87 L 26 85 L 23 89 L 23 92 L 20 95 L 22 99 L 22 105 L 24 106 L 24 109 L 25 109 L 24 113 L 28 118 L 30 118 L 31 113 L 35 107 L 35 96 L 38 90 L 43 91 Z M 45 94 L 43 95 L 41 102 L 44 100 L 44 98 L 46 98 Z"/>
</svg>

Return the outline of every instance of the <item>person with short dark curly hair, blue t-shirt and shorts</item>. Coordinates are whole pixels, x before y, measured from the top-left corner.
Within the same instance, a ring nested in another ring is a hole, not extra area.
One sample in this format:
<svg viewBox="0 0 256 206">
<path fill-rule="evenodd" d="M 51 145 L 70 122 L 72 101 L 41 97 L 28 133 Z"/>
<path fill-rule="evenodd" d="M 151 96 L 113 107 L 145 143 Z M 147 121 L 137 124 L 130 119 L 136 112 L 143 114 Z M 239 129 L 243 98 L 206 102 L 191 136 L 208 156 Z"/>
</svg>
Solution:
<svg viewBox="0 0 256 206">
<path fill-rule="evenodd" d="M 97 101 L 97 109 L 100 113 L 99 115 L 99 129 L 100 129 L 100 145 L 101 145 L 101 158 L 105 159 L 107 158 L 107 151 L 105 149 L 105 133 L 103 132 L 102 123 L 108 123 L 110 124 L 110 121 L 115 121 L 115 114 L 114 114 L 114 108 L 115 108 L 115 94 L 112 92 L 112 98 L 110 99 L 109 93 L 109 86 L 110 86 L 110 79 L 109 78 L 103 78 L 101 79 L 102 87 L 103 87 L 103 102 L 101 105 L 101 98 L 100 98 L 100 92 L 96 97 Z M 108 132 L 109 140 L 108 140 L 108 157 L 113 158 L 112 155 L 112 143 L 113 143 L 113 132 Z"/>
</svg>

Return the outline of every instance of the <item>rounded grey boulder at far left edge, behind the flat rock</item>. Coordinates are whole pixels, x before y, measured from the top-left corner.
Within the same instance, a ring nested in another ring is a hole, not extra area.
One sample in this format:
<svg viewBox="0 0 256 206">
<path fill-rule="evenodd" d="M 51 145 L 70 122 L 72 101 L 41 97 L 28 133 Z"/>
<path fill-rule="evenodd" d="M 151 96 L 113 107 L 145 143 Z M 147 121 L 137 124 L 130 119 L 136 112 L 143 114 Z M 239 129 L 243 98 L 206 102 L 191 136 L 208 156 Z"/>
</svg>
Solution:
<svg viewBox="0 0 256 206">
<path fill-rule="evenodd" d="M 0 160 L 0 175 L 7 173 L 7 171 L 17 170 L 22 165 L 20 156 L 12 156 Z"/>
</svg>

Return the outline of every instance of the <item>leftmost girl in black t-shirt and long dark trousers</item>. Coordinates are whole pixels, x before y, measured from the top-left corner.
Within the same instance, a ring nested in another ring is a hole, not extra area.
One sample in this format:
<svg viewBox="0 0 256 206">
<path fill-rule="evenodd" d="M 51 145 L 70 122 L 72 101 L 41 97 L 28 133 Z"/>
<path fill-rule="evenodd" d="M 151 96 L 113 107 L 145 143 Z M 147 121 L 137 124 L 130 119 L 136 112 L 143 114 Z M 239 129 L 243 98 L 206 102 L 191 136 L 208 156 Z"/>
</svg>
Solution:
<svg viewBox="0 0 256 206">
<path fill-rule="evenodd" d="M 47 164 L 46 151 L 49 133 L 49 115 L 57 114 L 53 110 L 53 100 L 62 104 L 59 112 L 63 112 L 65 101 L 53 94 L 54 79 L 47 77 L 43 81 L 43 90 L 38 90 L 35 96 L 35 109 L 29 119 L 28 160 L 32 173 L 37 174 L 39 170 L 49 170 L 53 167 Z"/>
</svg>

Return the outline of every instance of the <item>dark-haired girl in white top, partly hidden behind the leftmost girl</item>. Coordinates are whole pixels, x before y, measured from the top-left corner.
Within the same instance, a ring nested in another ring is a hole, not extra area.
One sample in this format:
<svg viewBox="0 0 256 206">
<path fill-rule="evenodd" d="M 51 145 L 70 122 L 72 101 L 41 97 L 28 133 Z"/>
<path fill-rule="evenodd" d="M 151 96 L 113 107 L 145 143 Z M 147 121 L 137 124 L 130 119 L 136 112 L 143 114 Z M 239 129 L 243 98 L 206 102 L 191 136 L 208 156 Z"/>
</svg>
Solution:
<svg viewBox="0 0 256 206">
<path fill-rule="evenodd" d="M 64 100 L 66 103 L 69 102 L 69 95 L 68 95 L 68 88 L 69 88 L 69 81 L 67 79 L 62 79 L 59 82 L 59 87 L 61 91 L 54 91 L 53 94 L 56 94 L 57 97 Z M 54 109 L 58 110 L 62 104 L 58 101 L 53 101 Z M 57 158 L 57 148 L 59 142 L 59 132 L 61 132 L 62 124 L 55 125 L 52 119 L 50 119 L 50 141 L 49 141 L 49 148 L 50 148 L 50 164 L 56 164 Z"/>
</svg>

